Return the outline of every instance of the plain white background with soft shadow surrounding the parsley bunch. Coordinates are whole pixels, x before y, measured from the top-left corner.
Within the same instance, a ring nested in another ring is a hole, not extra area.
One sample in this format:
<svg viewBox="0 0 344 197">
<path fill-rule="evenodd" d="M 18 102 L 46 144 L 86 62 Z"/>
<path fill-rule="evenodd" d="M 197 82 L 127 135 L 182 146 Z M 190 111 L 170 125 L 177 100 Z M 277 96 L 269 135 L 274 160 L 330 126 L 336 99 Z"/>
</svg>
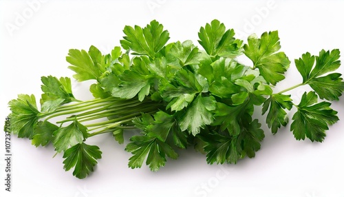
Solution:
<svg viewBox="0 0 344 197">
<path fill-rule="evenodd" d="M 170 41 L 191 39 L 205 23 L 219 19 L 245 39 L 253 32 L 279 30 L 292 61 L 276 91 L 301 82 L 294 59 L 321 49 L 344 51 L 344 1 L 0 1 L 0 119 L 17 94 L 40 97 L 40 77 L 72 76 L 65 56 L 71 48 L 95 45 L 109 52 L 122 39 L 125 25 L 144 26 L 157 19 Z M 341 58 L 343 62 L 343 58 Z M 248 61 L 248 63 L 250 63 Z M 344 66 L 343 66 L 344 67 Z M 338 72 L 344 73 L 344 68 Z M 77 98 L 91 98 L 89 83 L 74 85 Z M 290 92 L 295 102 L 308 90 Z M 344 120 L 344 98 L 332 107 Z M 291 114 L 293 112 L 290 112 Z M 103 151 L 96 171 L 84 180 L 65 172 L 52 146 L 36 148 L 12 138 L 12 191 L 5 191 L 4 134 L 0 135 L 0 196 L 344 196 L 344 123 L 330 127 L 324 143 L 295 141 L 290 125 L 272 135 L 266 130 L 261 150 L 237 165 L 207 165 L 193 149 L 180 151 L 159 172 L 127 167 L 130 153 L 111 136 L 91 139 Z M 2 127 L 1 121 L 1 127 Z"/>
</svg>

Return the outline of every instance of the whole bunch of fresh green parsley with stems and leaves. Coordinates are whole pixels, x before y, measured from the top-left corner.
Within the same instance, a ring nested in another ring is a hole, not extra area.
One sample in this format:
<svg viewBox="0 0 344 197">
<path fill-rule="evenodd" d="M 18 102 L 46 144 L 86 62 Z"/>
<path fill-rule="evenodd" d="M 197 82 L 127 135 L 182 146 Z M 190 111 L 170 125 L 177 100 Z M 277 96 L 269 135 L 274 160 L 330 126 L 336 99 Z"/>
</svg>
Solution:
<svg viewBox="0 0 344 197">
<path fill-rule="evenodd" d="M 297 140 L 322 142 L 325 131 L 338 121 L 328 101 L 338 100 L 344 90 L 339 50 L 321 50 L 318 56 L 302 54 L 294 63 L 303 81 L 281 92 L 273 92 L 290 60 L 279 51 L 278 32 L 252 34 L 247 43 L 235 39 L 217 20 L 200 28 L 198 41 L 167 43 L 169 32 L 158 21 L 140 28 L 125 26 L 121 48 L 102 54 L 96 47 L 69 50 L 69 69 L 78 81 L 95 81 L 90 101 L 72 94 L 71 80 L 43 76 L 37 107 L 34 95 L 19 94 L 10 101 L 12 132 L 29 138 L 36 147 L 52 143 L 63 153 L 64 169 L 85 178 L 94 170 L 102 152 L 87 145 L 87 138 L 110 133 L 124 143 L 123 133 L 138 130 L 125 150 L 133 156 L 129 167 L 142 163 L 157 171 L 166 158 L 178 158 L 176 149 L 195 147 L 206 154 L 207 163 L 237 163 L 255 156 L 264 139 L 255 105 L 262 106 L 273 134 L 288 124 L 288 111 L 296 107 L 290 129 Z M 124 52 L 123 52 L 124 50 Z M 237 57 L 245 55 L 252 65 Z M 300 103 L 286 94 L 309 85 Z M 319 98 L 321 100 L 319 100 Z M 66 117 L 67 118 L 61 118 Z M 52 118 L 60 117 L 56 123 Z"/>
</svg>

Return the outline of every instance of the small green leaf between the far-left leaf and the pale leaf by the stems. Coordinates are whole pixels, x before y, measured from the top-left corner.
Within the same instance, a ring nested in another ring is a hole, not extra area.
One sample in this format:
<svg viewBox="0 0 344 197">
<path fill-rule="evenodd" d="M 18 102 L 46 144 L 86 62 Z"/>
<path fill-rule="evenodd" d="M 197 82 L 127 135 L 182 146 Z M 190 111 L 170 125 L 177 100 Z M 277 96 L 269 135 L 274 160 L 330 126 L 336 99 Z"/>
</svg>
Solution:
<svg viewBox="0 0 344 197">
<path fill-rule="evenodd" d="M 32 145 L 38 147 L 49 145 L 54 139 L 53 133 L 58 129 L 58 126 L 48 122 L 39 121 L 32 134 Z"/>
</svg>

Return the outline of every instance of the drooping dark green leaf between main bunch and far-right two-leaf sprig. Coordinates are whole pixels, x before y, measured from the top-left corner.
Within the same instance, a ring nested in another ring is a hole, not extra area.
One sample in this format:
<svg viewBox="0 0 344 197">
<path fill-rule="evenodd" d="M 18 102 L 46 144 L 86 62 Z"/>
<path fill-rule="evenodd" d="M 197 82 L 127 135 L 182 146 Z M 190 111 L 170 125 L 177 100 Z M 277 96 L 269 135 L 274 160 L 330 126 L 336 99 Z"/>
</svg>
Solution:
<svg viewBox="0 0 344 197">
<path fill-rule="evenodd" d="M 292 109 L 292 98 L 290 95 L 272 94 L 263 104 L 262 115 L 268 111 L 266 116 L 266 123 L 271 128 L 272 134 L 276 134 L 277 130 L 289 122 L 288 115 L 284 109 Z"/>
</svg>

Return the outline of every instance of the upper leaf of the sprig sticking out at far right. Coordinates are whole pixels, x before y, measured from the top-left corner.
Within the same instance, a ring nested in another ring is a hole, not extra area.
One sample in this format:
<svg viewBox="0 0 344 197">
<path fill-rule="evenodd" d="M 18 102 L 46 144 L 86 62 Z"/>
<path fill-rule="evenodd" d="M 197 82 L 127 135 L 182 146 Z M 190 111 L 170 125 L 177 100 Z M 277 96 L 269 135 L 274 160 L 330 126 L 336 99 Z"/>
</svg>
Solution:
<svg viewBox="0 0 344 197">
<path fill-rule="evenodd" d="M 308 84 L 319 95 L 321 99 L 329 101 L 338 100 L 344 90 L 344 81 L 339 73 L 328 74 L 336 70 L 340 65 L 339 50 L 325 52 L 321 50 L 319 56 L 312 56 L 310 53 L 302 54 L 300 59 L 295 59 L 295 65 L 299 70 L 303 84 Z M 314 65 L 314 61 L 316 62 Z"/>
</svg>

